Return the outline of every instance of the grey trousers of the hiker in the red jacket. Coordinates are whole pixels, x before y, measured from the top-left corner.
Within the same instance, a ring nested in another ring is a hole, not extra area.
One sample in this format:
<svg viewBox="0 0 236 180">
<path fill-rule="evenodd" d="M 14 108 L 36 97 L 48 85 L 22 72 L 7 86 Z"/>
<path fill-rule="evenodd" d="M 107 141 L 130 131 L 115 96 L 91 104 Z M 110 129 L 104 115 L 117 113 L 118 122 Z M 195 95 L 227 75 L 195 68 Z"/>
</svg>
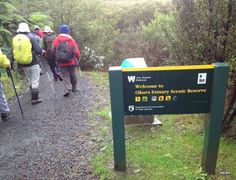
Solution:
<svg viewBox="0 0 236 180">
<path fill-rule="evenodd" d="M 63 84 L 65 93 L 69 90 L 76 90 L 77 77 L 76 77 L 76 67 L 68 66 L 61 67 L 60 72 L 63 76 Z"/>
</svg>

